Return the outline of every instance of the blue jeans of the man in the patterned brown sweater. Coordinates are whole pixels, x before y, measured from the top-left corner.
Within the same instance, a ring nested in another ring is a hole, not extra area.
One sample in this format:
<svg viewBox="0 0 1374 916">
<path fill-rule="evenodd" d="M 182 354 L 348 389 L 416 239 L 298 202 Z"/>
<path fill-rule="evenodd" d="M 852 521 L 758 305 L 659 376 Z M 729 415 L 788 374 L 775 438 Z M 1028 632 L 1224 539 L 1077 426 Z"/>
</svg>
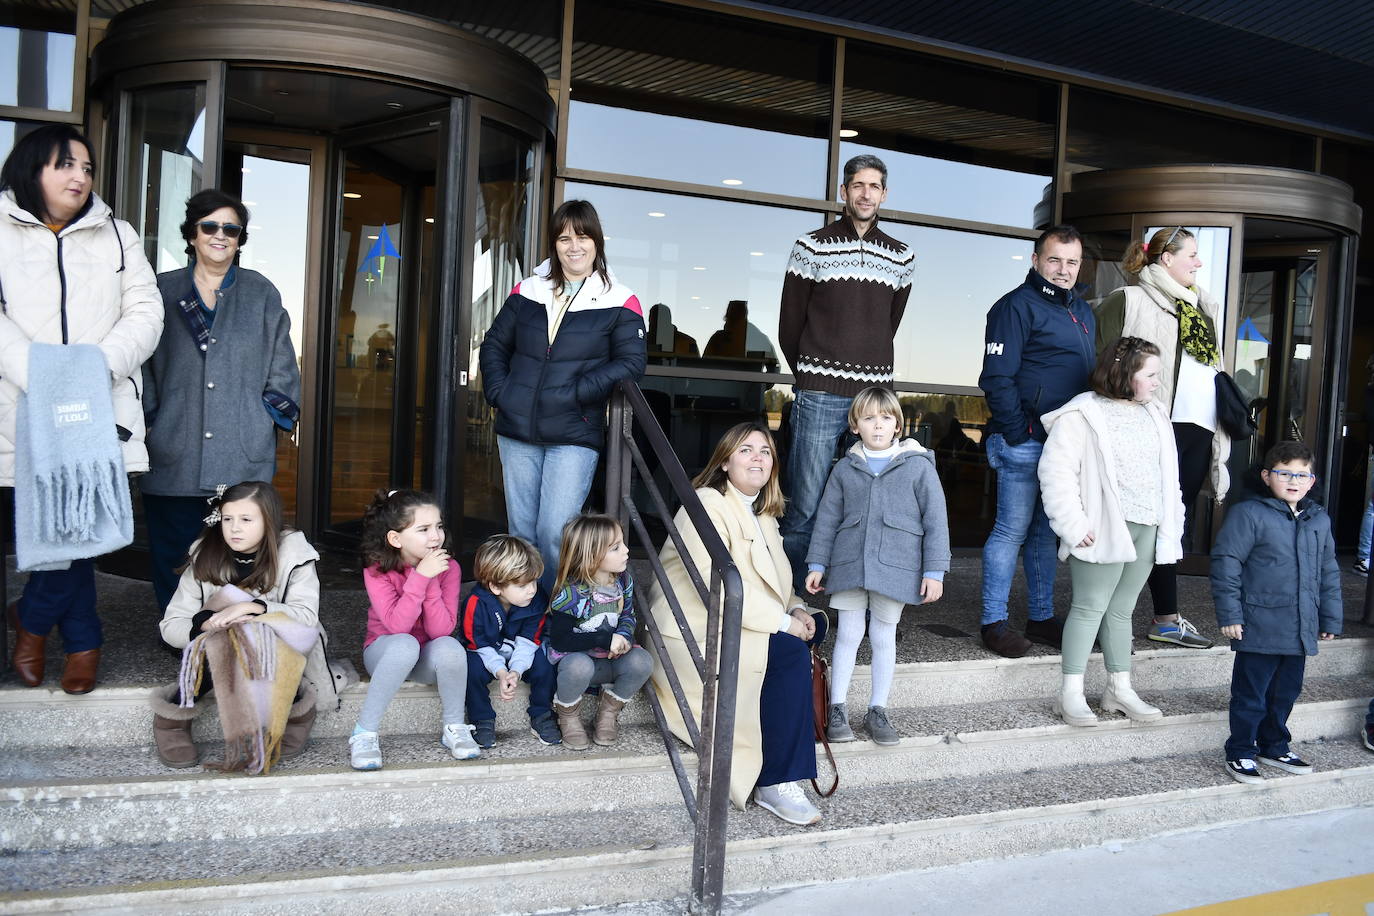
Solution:
<svg viewBox="0 0 1374 916">
<path fill-rule="evenodd" d="M 791 404 L 791 445 L 787 449 L 787 511 L 782 516 L 782 548 L 791 563 L 793 588 L 805 595 L 807 549 L 816 507 L 830 478 L 835 445 L 849 430 L 852 397 L 830 391 L 797 391 Z"/>
</svg>

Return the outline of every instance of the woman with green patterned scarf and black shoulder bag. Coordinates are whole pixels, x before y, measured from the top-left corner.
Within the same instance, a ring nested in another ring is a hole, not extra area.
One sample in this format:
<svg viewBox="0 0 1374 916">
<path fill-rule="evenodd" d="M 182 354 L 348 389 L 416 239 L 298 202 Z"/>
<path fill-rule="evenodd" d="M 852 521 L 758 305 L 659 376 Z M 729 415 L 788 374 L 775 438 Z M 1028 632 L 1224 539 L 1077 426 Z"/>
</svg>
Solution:
<svg viewBox="0 0 1374 916">
<path fill-rule="evenodd" d="M 1107 295 L 1098 306 L 1098 352 L 1120 336 L 1136 336 L 1160 347 L 1158 400 L 1173 424 L 1183 490 L 1183 544 L 1189 544 L 1193 509 L 1204 481 L 1210 479 L 1216 501 L 1226 499 L 1231 478 L 1226 460 L 1231 438 L 1216 416 L 1216 372 L 1221 368 L 1217 320 L 1221 305 L 1197 283 L 1198 242 L 1183 227 L 1160 229 L 1149 242 L 1132 246 L 1121 269 L 1136 279 Z M 1150 573 L 1154 622 L 1147 633 L 1156 643 L 1208 648 L 1212 640 L 1179 615 L 1178 573 L 1172 564 Z"/>
</svg>

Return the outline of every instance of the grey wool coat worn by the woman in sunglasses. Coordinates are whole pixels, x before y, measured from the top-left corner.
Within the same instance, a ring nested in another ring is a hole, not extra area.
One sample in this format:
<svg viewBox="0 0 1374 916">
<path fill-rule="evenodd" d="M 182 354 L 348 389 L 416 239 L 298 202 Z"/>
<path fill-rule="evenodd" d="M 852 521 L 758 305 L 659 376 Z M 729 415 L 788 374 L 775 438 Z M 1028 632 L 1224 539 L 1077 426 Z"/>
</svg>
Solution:
<svg viewBox="0 0 1374 916">
<path fill-rule="evenodd" d="M 264 396 L 294 422 L 301 372 L 291 346 L 291 319 L 271 280 L 235 268 L 220 293 L 205 352 L 187 327 L 191 268 L 158 275 L 166 328 L 143 364 L 143 413 L 150 471 L 139 479 L 154 496 L 203 496 L 216 485 L 271 481 L 276 430 Z"/>
</svg>

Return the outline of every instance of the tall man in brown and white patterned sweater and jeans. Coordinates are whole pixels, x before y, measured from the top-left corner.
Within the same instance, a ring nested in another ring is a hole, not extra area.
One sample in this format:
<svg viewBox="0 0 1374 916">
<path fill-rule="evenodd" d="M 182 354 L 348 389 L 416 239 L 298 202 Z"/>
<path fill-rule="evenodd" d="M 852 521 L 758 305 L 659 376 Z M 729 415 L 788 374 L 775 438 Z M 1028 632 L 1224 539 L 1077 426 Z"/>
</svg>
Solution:
<svg viewBox="0 0 1374 916">
<path fill-rule="evenodd" d="M 782 520 L 794 586 L 805 595 L 807 547 L 849 402 L 866 387 L 892 387 L 892 339 L 911 295 L 916 255 L 878 229 L 888 166 L 874 155 L 845 163 L 845 211 L 791 249 L 782 286 L 778 341 L 791 365 L 791 448 Z"/>
</svg>

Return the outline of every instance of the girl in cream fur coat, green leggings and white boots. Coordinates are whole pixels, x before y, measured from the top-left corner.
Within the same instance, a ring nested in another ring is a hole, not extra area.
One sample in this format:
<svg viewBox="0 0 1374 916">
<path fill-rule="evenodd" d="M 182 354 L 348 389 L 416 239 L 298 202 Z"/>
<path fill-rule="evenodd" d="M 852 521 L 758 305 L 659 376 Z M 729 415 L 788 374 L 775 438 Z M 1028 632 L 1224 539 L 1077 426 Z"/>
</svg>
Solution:
<svg viewBox="0 0 1374 916">
<path fill-rule="evenodd" d="M 1069 562 L 1073 606 L 1063 625 L 1055 713 L 1096 725 L 1083 696 L 1094 639 L 1102 643 L 1103 711 L 1136 721 L 1162 713 L 1131 689 L 1131 614 L 1156 563 L 1183 556 L 1179 460 L 1160 387 L 1160 349 L 1125 336 L 1106 346 L 1084 391 L 1041 420 L 1040 493 L 1059 558 Z"/>
</svg>

